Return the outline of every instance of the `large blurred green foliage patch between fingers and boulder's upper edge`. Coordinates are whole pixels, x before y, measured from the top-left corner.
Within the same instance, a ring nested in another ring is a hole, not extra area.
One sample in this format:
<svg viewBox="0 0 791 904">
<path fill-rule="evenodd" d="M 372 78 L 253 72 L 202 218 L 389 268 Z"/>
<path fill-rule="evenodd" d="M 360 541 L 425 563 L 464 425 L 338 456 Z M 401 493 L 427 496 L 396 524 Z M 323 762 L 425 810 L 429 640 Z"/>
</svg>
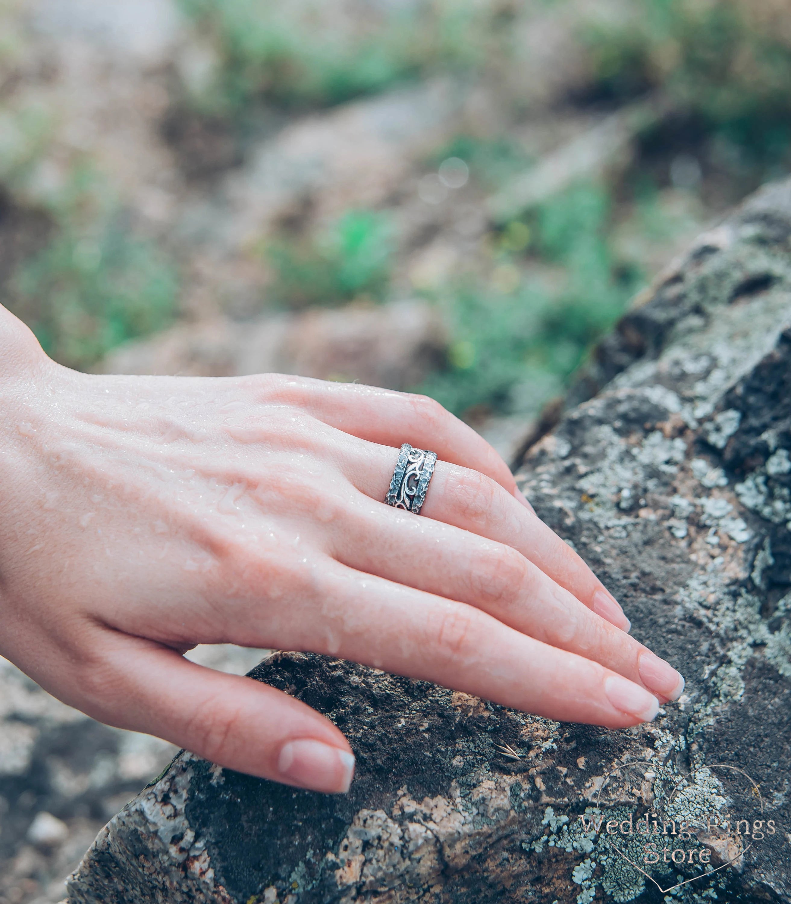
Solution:
<svg viewBox="0 0 791 904">
<path fill-rule="evenodd" d="M 610 195 L 598 184 L 579 184 L 532 212 L 529 222 L 510 223 L 494 276 L 507 281 L 513 271 L 513 290 L 467 283 L 439 294 L 453 344 L 447 370 L 420 391 L 460 415 L 540 409 L 643 281 L 639 270 L 617 260 L 610 226 Z M 561 268 L 559 287 L 523 281 L 514 266 L 520 246 Z"/>
</svg>

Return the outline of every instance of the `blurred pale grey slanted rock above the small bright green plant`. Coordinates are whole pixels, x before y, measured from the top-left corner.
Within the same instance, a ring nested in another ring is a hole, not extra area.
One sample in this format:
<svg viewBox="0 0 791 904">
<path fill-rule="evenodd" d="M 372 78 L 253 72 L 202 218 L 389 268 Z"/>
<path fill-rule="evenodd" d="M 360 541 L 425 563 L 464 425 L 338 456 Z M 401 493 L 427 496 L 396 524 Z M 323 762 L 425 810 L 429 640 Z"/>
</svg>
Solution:
<svg viewBox="0 0 791 904">
<path fill-rule="evenodd" d="M 377 206 L 462 127 L 468 93 L 433 80 L 301 118 L 252 148 L 208 206 L 187 208 L 184 229 L 202 224 L 212 247 L 240 250 L 306 202 L 318 221 Z"/>
</svg>

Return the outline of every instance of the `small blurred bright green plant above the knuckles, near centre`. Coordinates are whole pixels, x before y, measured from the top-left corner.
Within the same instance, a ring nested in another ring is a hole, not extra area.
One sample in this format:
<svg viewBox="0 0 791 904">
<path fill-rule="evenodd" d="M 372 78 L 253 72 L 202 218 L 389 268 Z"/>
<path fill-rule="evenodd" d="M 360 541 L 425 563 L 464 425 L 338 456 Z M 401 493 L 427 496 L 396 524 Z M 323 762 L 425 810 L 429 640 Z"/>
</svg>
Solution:
<svg viewBox="0 0 791 904">
<path fill-rule="evenodd" d="M 387 216 L 372 211 L 346 212 L 306 238 L 269 240 L 275 280 L 268 300 L 291 308 L 380 300 L 390 285 L 392 240 Z"/>
</svg>

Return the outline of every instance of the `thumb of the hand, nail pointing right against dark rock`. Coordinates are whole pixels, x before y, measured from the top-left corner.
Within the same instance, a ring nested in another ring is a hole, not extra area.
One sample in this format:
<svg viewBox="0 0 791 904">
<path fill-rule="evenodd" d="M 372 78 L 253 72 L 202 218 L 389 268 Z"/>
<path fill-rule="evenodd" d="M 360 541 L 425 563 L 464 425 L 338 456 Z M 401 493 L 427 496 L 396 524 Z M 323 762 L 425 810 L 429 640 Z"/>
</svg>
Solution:
<svg viewBox="0 0 791 904">
<path fill-rule="evenodd" d="M 305 703 L 142 638 L 116 635 L 111 645 L 112 675 L 92 694 L 99 699 L 81 707 L 89 715 L 238 772 L 328 794 L 349 790 L 348 741 Z"/>
</svg>

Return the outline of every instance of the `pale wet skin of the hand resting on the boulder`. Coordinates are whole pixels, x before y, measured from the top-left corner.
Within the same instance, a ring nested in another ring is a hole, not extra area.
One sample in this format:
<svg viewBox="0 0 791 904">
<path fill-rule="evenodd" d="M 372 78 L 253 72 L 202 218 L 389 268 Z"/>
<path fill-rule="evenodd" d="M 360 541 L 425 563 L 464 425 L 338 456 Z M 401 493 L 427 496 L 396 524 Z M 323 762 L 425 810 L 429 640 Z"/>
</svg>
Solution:
<svg viewBox="0 0 791 904">
<path fill-rule="evenodd" d="M 420 515 L 383 503 L 402 442 L 439 457 Z M 82 374 L 0 307 L 0 654 L 90 716 L 344 792 L 353 753 L 329 720 L 184 651 L 329 654 L 618 729 L 683 690 L 628 627 L 435 402 L 277 374 Z"/>
</svg>

